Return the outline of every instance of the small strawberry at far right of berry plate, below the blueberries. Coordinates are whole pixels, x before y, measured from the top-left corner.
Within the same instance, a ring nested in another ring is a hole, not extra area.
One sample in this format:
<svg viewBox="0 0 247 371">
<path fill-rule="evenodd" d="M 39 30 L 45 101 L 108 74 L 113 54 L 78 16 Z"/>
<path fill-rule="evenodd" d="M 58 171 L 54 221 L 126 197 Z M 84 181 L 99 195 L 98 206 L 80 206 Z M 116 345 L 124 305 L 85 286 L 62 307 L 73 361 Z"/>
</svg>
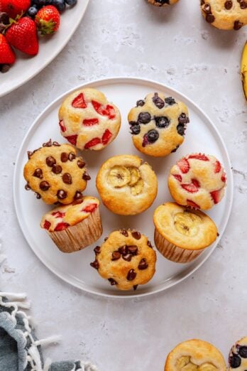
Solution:
<svg viewBox="0 0 247 371">
<path fill-rule="evenodd" d="M 59 28 L 60 13 L 53 5 L 43 6 L 35 16 L 35 23 L 41 35 L 50 35 Z"/>
</svg>

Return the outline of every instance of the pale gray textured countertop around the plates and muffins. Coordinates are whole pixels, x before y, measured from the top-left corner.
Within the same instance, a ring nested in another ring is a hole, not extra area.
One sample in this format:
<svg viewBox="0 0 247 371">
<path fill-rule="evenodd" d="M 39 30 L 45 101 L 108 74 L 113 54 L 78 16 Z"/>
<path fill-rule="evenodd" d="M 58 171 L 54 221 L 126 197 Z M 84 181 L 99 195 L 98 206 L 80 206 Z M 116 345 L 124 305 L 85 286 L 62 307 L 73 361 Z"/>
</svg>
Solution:
<svg viewBox="0 0 247 371">
<path fill-rule="evenodd" d="M 145 0 L 92 0 L 53 63 L 0 100 L 0 230 L 7 255 L 0 284 L 28 293 L 38 337 L 62 335 L 60 345 L 45 351 L 53 360 L 92 359 L 100 371 L 161 371 L 182 340 L 208 340 L 227 357 L 247 335 L 247 106 L 239 75 L 247 28 L 216 30 L 198 3 L 159 9 Z M 16 154 L 35 117 L 75 85 L 118 75 L 158 80 L 194 100 L 221 132 L 234 167 L 234 206 L 218 248 L 182 284 L 143 299 L 100 298 L 60 281 L 28 247 L 13 208 Z"/>
</svg>

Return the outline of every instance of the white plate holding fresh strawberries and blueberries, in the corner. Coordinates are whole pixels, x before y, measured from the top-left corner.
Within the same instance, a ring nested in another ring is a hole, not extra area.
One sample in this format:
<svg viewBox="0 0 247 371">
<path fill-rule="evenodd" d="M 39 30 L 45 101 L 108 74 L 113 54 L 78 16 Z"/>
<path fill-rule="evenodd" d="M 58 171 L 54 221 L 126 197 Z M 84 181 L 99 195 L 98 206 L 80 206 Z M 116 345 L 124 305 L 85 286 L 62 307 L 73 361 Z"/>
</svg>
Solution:
<svg viewBox="0 0 247 371">
<path fill-rule="evenodd" d="M 39 52 L 35 57 L 16 51 L 16 63 L 9 72 L 0 72 L 0 97 L 17 89 L 31 80 L 43 68 L 45 68 L 72 37 L 73 33 L 82 21 L 89 0 L 79 0 L 75 6 L 67 6 L 66 11 L 61 14 L 60 28 L 53 36 L 39 38 Z"/>
</svg>

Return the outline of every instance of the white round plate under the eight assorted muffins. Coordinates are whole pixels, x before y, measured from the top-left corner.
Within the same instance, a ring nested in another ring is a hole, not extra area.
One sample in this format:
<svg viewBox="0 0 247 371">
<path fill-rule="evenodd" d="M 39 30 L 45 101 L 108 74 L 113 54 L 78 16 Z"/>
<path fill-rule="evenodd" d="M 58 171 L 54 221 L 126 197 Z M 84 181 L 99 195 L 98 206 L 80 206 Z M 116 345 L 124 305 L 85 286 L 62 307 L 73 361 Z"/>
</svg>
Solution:
<svg viewBox="0 0 247 371">
<path fill-rule="evenodd" d="M 111 102 L 114 102 L 114 104 L 119 107 L 122 115 L 119 136 L 117 136 L 111 145 L 106 147 L 103 151 L 84 151 L 82 154 L 87 161 L 89 173 L 92 176 L 92 180 L 89 181 L 85 194 L 99 197 L 95 187 L 95 178 L 99 167 L 107 158 L 116 154 L 137 154 L 153 166 L 158 176 L 158 196 L 153 206 L 146 210 L 145 213 L 131 217 L 115 215 L 107 210 L 104 205 L 101 205 L 101 217 L 104 227 L 101 239 L 80 252 L 64 254 L 57 249 L 45 230 L 40 228 L 41 216 L 47 212 L 47 210 L 50 210 L 51 207 L 45 205 L 42 200 L 37 200 L 31 190 L 27 192 L 24 189 L 25 180 L 23 178 L 23 166 L 28 160 L 27 151 L 37 149 L 43 142 L 48 141 L 50 138 L 60 143 L 65 142 L 60 135 L 60 129 L 58 127 L 58 108 L 68 93 L 80 87 L 95 87 L 101 90 Z M 168 289 L 170 286 L 177 284 L 192 274 L 192 272 L 198 269 L 202 263 L 207 260 L 216 247 L 216 244 L 219 243 L 219 239 L 224 232 L 233 200 L 233 178 L 226 146 L 216 127 L 214 127 L 214 124 L 212 124 L 209 118 L 196 104 L 179 92 L 165 87 L 165 85 L 159 84 L 158 82 L 119 77 L 94 81 L 80 87 L 66 92 L 61 97 L 57 98 L 55 102 L 51 103 L 35 120 L 21 144 L 21 149 L 18 152 L 16 161 L 13 193 L 16 214 L 23 235 L 26 237 L 33 252 L 35 252 L 38 258 L 50 271 L 53 271 L 53 273 L 60 276 L 61 279 L 64 279 L 68 283 L 84 291 L 103 296 L 127 297 L 144 296 Z M 185 142 L 175 154 L 171 154 L 167 158 L 152 158 L 139 153 L 132 144 L 131 134 L 128 128 L 127 115 L 129 109 L 135 106 L 137 100 L 143 99 L 148 92 L 155 91 L 162 91 L 168 96 L 175 97 L 176 100 L 182 100 L 187 104 L 190 112 L 190 124 L 187 126 Z M 94 261 L 93 248 L 97 246 L 97 244 L 101 244 L 104 237 L 108 236 L 111 231 L 123 227 L 140 230 L 153 242 L 153 212 L 158 205 L 171 200 L 167 185 L 169 170 L 180 157 L 192 152 L 213 154 L 224 163 L 228 179 L 226 195 L 221 203 L 216 205 L 208 213 L 218 226 L 218 240 L 190 264 L 176 264 L 170 262 L 157 252 L 158 260 L 156 273 L 153 279 L 146 285 L 138 286 L 136 291 L 118 291 L 116 287 L 110 286 L 108 281 L 101 279 L 97 271 L 90 267 L 89 263 Z"/>
</svg>

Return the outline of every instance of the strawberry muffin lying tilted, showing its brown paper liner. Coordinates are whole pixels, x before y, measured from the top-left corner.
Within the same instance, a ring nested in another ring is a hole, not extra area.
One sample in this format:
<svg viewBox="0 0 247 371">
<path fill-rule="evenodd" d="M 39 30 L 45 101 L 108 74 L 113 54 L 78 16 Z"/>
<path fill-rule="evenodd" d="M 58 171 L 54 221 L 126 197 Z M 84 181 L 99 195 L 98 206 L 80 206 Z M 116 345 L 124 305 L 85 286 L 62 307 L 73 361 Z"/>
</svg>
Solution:
<svg viewBox="0 0 247 371">
<path fill-rule="evenodd" d="M 94 243 L 102 235 L 99 200 L 85 196 L 43 215 L 40 227 L 48 232 L 62 252 L 75 252 Z"/>
</svg>

